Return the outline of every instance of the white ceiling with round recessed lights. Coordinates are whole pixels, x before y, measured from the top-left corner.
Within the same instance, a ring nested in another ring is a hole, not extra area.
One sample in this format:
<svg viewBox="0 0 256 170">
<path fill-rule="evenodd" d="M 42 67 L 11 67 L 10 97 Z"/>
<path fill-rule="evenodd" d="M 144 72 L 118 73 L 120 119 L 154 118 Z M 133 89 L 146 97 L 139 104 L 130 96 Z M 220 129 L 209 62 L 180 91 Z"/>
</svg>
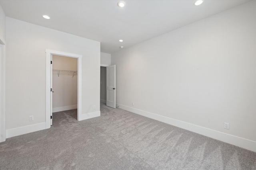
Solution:
<svg viewBox="0 0 256 170">
<path fill-rule="evenodd" d="M 0 0 L 7 17 L 101 42 L 113 53 L 250 0 Z M 46 20 L 42 15 L 48 15 Z M 121 43 L 119 39 L 124 41 Z"/>
</svg>

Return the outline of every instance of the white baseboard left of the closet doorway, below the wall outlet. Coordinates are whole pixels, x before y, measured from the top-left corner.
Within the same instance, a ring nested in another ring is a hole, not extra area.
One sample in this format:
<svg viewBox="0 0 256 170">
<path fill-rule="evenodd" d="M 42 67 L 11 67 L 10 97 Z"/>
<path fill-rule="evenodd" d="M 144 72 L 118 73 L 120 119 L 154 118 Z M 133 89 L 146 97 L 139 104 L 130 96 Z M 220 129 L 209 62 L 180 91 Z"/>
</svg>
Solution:
<svg viewBox="0 0 256 170">
<path fill-rule="evenodd" d="M 46 129 L 45 122 L 6 130 L 6 138 Z"/>
</svg>

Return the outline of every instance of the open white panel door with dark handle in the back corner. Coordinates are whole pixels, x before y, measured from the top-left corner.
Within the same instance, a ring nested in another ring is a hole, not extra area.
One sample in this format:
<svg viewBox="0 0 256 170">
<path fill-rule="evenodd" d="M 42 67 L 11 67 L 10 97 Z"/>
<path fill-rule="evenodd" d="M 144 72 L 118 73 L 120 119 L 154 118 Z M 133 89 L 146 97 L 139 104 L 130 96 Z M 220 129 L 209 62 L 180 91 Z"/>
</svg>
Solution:
<svg viewBox="0 0 256 170">
<path fill-rule="evenodd" d="M 116 108 L 116 65 L 107 66 L 107 106 Z"/>
</svg>

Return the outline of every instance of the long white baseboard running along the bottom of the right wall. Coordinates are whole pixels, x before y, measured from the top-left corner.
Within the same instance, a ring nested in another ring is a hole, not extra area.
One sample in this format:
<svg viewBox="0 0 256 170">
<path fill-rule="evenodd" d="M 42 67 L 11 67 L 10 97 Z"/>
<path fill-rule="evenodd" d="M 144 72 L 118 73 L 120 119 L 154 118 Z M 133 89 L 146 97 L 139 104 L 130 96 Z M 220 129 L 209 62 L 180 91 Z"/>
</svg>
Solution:
<svg viewBox="0 0 256 170">
<path fill-rule="evenodd" d="M 204 135 L 204 136 L 207 136 L 207 137 L 210 137 L 210 138 L 213 138 L 213 139 L 217 139 L 217 140 L 222 141 L 222 142 L 226 142 L 226 143 L 229 143 L 229 144 L 232 144 L 232 145 L 235 145 L 235 146 L 238 146 L 238 147 L 248 149 L 248 150 L 252 150 L 252 151 L 256 152 L 256 141 L 251 141 L 251 140 L 244 139 L 244 138 L 241 138 L 241 137 L 237 137 L 237 136 L 234 136 L 234 135 L 229 135 L 227 133 L 223 133 L 223 132 L 220 132 L 220 131 L 215 131 L 215 130 L 208 129 L 208 128 L 205 128 L 205 127 L 201 127 L 201 126 L 198 126 L 198 125 L 193 125 L 193 124 L 190 124 L 190 123 L 187 123 L 187 122 L 184 122 L 184 121 L 179 121 L 179 120 L 176 120 L 176 119 L 172 119 L 172 118 L 169 118 L 169 117 L 157 115 L 157 114 L 154 114 L 154 113 L 150 113 L 148 111 L 135 109 L 135 108 L 132 108 L 132 107 L 121 105 L 121 104 L 116 104 L 116 107 L 119 107 L 121 109 L 136 113 L 138 115 L 149 117 L 151 119 L 155 119 L 155 120 L 158 120 L 158 121 L 161 121 L 161 122 L 164 122 L 164 123 L 176 126 L 176 127 L 180 127 L 182 129 L 186 129 L 188 131 L 198 133 L 200 135 Z"/>
</svg>

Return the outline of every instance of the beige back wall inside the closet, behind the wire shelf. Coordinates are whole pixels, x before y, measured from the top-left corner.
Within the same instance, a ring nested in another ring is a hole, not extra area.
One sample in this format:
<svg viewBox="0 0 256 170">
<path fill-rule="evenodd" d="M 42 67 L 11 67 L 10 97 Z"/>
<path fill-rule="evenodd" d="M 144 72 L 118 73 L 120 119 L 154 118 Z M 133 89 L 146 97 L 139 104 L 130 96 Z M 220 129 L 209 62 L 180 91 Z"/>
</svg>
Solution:
<svg viewBox="0 0 256 170">
<path fill-rule="evenodd" d="M 77 59 L 52 55 L 53 70 L 77 71 Z M 77 75 L 52 75 L 52 112 L 77 109 Z"/>
</svg>

